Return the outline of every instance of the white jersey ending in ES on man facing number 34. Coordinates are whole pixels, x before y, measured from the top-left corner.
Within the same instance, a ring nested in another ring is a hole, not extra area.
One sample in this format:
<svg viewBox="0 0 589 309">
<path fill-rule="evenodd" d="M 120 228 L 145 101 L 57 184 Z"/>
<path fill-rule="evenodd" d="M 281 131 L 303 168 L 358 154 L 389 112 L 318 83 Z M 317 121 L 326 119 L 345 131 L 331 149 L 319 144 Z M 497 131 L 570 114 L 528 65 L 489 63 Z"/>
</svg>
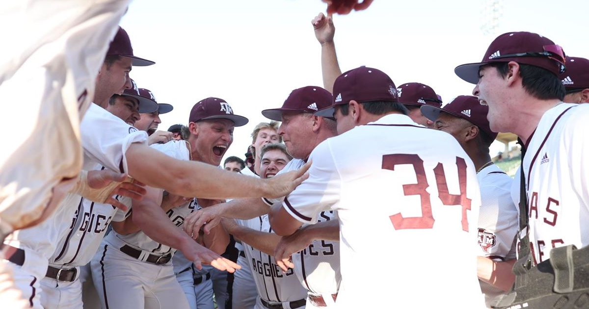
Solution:
<svg viewBox="0 0 589 309">
<path fill-rule="evenodd" d="M 278 174 L 299 170 L 303 165 L 305 165 L 303 160 L 290 160 Z M 282 203 L 284 198 L 263 198 L 263 200 L 266 204 L 272 205 Z M 317 221 L 329 221 L 335 217 L 333 211 L 322 211 Z M 306 225 L 308 224 L 303 226 Z M 305 250 L 292 255 L 294 273 L 299 278 L 300 284 L 313 295 L 337 293 L 342 280 L 339 260 L 339 242 L 337 241 L 316 240 Z"/>
</svg>

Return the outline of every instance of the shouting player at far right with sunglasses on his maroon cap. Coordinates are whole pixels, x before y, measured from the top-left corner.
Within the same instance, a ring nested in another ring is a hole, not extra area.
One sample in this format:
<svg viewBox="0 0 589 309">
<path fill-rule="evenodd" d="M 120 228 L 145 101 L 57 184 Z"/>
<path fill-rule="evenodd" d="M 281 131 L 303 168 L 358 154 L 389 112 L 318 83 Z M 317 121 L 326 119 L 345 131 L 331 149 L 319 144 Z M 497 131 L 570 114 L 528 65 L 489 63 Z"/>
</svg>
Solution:
<svg viewBox="0 0 589 309">
<path fill-rule="evenodd" d="M 473 94 L 489 106 L 491 129 L 513 132 L 524 143 L 512 197 L 514 203 L 519 202 L 522 185 L 529 234 L 522 231 L 521 239 L 529 237 L 529 244 L 521 241 L 521 260 L 514 270 L 530 269 L 527 265 L 533 268 L 547 260 L 554 248 L 589 244 L 589 227 L 583 224 L 589 218 L 589 192 L 583 182 L 589 171 L 584 168 L 589 107 L 562 102 L 566 89 L 558 74 L 564 70 L 562 48 L 531 32 L 499 35 L 481 62 L 455 68 L 456 75 L 476 84 Z M 516 290 L 521 287 L 516 280 Z M 554 301 L 558 298 L 555 295 Z"/>
</svg>

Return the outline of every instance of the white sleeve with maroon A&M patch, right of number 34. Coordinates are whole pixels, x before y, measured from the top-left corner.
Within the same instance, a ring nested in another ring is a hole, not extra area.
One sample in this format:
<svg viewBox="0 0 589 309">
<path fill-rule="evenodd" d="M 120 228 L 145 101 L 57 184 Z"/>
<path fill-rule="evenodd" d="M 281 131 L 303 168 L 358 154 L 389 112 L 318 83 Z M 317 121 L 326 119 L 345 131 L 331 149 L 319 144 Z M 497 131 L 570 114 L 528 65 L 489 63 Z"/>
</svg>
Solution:
<svg viewBox="0 0 589 309">
<path fill-rule="evenodd" d="M 511 182 L 507 188 L 510 187 Z M 519 227 L 518 209 L 511 200 L 511 191 L 495 185 L 481 186 L 481 204 L 478 255 L 505 260 Z"/>
</svg>

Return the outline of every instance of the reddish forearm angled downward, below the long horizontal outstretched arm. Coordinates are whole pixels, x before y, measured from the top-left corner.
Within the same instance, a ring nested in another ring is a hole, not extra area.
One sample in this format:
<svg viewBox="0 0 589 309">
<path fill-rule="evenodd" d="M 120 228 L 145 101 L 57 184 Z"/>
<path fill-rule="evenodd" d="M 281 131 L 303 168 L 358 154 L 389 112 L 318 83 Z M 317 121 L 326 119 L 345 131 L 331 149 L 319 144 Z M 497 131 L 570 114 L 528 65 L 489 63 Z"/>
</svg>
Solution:
<svg viewBox="0 0 589 309">
<path fill-rule="evenodd" d="M 133 201 L 133 222 L 145 235 L 168 247 L 180 249 L 183 242 L 193 241 L 153 200 Z"/>
</svg>

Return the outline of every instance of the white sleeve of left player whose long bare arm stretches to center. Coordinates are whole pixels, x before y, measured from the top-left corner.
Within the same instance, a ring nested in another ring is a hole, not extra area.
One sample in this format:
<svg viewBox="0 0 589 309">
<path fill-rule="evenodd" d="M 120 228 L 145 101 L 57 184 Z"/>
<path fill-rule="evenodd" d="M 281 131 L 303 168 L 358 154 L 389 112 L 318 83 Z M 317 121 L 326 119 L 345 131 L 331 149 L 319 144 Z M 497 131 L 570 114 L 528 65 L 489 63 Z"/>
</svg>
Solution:
<svg viewBox="0 0 589 309">
<path fill-rule="evenodd" d="M 127 172 L 127 149 L 134 142 L 147 144 L 147 133 L 96 104 L 88 108 L 80 131 L 84 153 L 112 171 Z"/>
</svg>

